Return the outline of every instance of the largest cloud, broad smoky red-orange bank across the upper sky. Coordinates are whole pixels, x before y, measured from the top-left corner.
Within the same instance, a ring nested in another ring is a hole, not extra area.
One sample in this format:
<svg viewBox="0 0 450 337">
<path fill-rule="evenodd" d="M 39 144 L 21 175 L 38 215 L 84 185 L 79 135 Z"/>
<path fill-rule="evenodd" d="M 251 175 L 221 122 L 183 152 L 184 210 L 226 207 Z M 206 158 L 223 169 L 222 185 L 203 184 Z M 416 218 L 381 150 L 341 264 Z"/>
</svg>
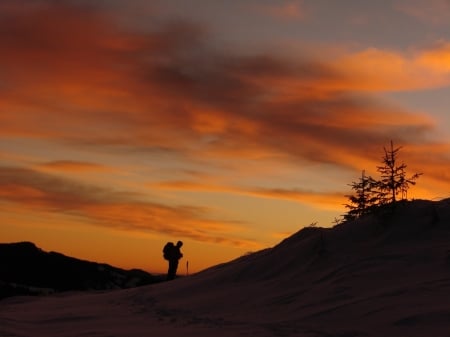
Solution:
<svg viewBox="0 0 450 337">
<path fill-rule="evenodd" d="M 19 14 L 1 23 L 8 35 L 0 36 L 6 41 L 0 61 L 9 69 L 2 108 L 17 111 L 1 117 L 3 135 L 181 152 L 201 144 L 236 156 L 279 152 L 317 160 L 334 152 L 336 139 L 345 147 L 355 139 L 380 144 L 380 126 L 392 131 L 392 123 L 382 124 L 387 116 L 411 123 L 406 112 L 343 91 L 364 88 L 364 80 L 380 90 L 388 81 L 411 83 L 404 74 L 390 81 L 405 62 L 398 55 L 367 51 L 339 67 L 295 63 L 212 51 L 203 31 L 190 24 L 138 34 L 92 8 L 44 6 Z M 362 123 L 364 133 L 353 128 Z M 293 149 L 295 143 L 309 150 Z"/>
</svg>

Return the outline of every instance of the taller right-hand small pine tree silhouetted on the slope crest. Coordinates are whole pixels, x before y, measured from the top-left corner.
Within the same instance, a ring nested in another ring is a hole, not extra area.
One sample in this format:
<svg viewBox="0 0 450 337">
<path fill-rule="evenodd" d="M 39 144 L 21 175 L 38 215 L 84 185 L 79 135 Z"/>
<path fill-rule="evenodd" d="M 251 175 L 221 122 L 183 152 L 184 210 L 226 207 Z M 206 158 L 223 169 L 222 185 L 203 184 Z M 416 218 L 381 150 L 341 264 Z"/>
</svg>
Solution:
<svg viewBox="0 0 450 337">
<path fill-rule="evenodd" d="M 394 148 L 391 140 L 391 148 L 388 150 L 384 147 L 383 166 L 377 166 L 381 180 L 377 183 L 378 199 L 380 204 L 394 203 L 397 196 L 401 194 L 401 199 L 407 197 L 407 191 L 410 185 L 415 185 L 416 180 L 422 173 L 415 173 L 410 178 L 406 177 L 406 165 L 398 164 L 398 152 L 401 147 Z"/>
</svg>

